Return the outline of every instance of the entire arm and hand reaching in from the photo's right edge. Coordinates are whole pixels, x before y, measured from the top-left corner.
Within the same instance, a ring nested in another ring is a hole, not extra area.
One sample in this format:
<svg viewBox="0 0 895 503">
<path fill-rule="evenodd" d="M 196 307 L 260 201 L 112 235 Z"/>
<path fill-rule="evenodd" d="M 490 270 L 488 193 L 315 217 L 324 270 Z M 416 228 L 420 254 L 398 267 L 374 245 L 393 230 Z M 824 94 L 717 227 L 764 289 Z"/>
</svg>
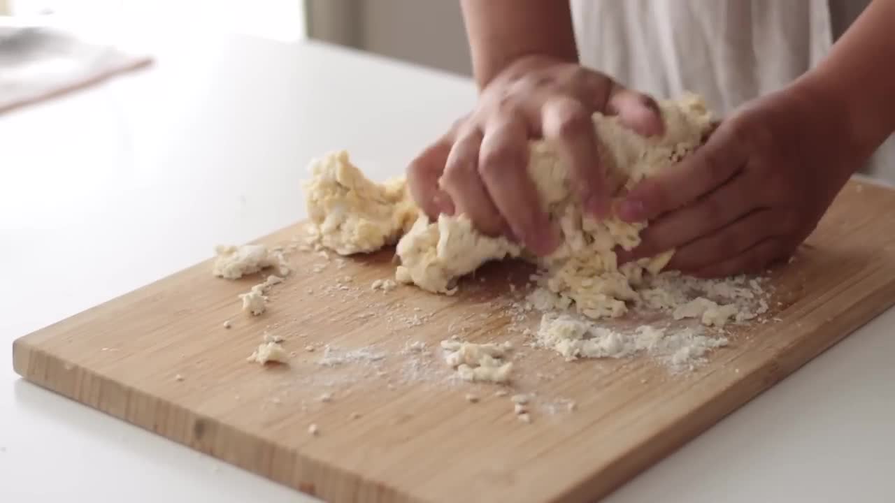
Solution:
<svg viewBox="0 0 895 503">
<path fill-rule="evenodd" d="M 674 249 L 671 269 L 729 276 L 794 252 L 895 131 L 893 23 L 895 0 L 874 0 L 823 63 L 628 192 L 621 217 L 651 223 L 623 260 Z"/>
</svg>

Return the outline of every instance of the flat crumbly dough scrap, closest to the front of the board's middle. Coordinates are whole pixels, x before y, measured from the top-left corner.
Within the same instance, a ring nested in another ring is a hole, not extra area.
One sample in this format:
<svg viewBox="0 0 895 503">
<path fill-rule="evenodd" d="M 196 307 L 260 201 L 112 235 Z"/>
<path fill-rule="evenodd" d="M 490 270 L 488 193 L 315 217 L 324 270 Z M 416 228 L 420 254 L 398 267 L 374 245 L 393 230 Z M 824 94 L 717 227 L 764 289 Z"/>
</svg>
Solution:
<svg viewBox="0 0 895 503">
<path fill-rule="evenodd" d="M 511 345 L 474 344 L 453 339 L 441 341 L 445 362 L 456 369 L 460 379 L 471 382 L 509 381 L 512 362 L 504 362 Z"/>
</svg>

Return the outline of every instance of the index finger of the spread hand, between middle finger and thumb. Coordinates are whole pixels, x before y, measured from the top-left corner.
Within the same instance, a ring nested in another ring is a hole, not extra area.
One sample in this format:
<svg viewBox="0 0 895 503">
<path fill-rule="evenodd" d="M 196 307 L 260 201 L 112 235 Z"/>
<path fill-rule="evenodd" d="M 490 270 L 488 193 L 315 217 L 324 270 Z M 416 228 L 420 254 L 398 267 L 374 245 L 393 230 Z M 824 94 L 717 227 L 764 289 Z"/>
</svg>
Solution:
<svg viewBox="0 0 895 503">
<path fill-rule="evenodd" d="M 573 98 L 551 98 L 541 108 L 541 130 L 567 162 L 584 210 L 608 215 L 616 187 L 607 183 L 590 112 Z"/>
</svg>

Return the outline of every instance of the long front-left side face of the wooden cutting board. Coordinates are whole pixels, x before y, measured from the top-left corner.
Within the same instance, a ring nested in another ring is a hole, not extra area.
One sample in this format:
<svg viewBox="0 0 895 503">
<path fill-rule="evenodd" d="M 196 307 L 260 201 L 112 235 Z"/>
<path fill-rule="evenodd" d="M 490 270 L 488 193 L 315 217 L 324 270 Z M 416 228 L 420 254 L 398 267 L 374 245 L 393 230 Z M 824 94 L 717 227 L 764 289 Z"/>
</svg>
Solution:
<svg viewBox="0 0 895 503">
<path fill-rule="evenodd" d="M 22 379 L 71 399 L 77 404 L 87 405 L 117 420 L 154 433 L 158 437 L 174 441 L 314 498 L 325 501 L 368 500 L 359 499 L 359 494 L 363 494 L 364 498 L 371 496 L 371 499 L 376 501 L 428 503 L 396 490 L 388 484 L 363 479 L 356 473 L 342 470 L 338 466 L 303 456 L 297 450 L 280 448 L 267 439 L 194 413 L 181 405 L 167 402 L 140 389 L 106 379 L 84 367 L 64 362 L 30 345 L 22 338 L 13 341 L 13 370 Z M 64 375 L 60 375 L 61 373 Z M 85 395 L 78 392 L 81 388 L 95 387 L 98 387 L 95 393 Z M 110 397 L 112 399 L 109 399 Z M 137 410 L 141 413 L 132 413 Z M 147 410 L 150 413 L 146 413 Z M 140 417 L 155 420 L 143 422 L 139 420 Z M 160 418 L 164 421 L 159 422 Z M 172 418 L 175 422 L 173 429 Z M 300 434 L 307 432 L 301 431 Z M 225 438 L 232 440 L 225 443 L 222 441 Z M 266 461 L 259 463 L 260 460 Z M 324 483 L 315 482 L 313 480 L 315 474 L 324 474 L 317 477 Z M 355 483 L 349 485 L 354 487 L 346 488 L 344 481 L 352 479 Z M 331 482 L 325 483 L 326 480 Z M 350 494 L 346 495 L 346 490 Z"/>
</svg>

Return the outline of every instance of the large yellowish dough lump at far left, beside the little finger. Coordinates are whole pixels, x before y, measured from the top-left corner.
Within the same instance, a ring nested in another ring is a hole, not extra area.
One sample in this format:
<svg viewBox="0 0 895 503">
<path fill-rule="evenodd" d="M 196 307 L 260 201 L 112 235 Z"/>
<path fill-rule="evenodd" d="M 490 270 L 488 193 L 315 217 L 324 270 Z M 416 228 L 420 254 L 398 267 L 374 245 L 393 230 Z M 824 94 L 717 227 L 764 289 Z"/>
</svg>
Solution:
<svg viewBox="0 0 895 503">
<path fill-rule="evenodd" d="M 304 192 L 313 243 L 340 255 L 375 252 L 413 225 L 418 209 L 403 178 L 373 183 L 345 151 L 314 159 L 309 170 Z"/>
</svg>

